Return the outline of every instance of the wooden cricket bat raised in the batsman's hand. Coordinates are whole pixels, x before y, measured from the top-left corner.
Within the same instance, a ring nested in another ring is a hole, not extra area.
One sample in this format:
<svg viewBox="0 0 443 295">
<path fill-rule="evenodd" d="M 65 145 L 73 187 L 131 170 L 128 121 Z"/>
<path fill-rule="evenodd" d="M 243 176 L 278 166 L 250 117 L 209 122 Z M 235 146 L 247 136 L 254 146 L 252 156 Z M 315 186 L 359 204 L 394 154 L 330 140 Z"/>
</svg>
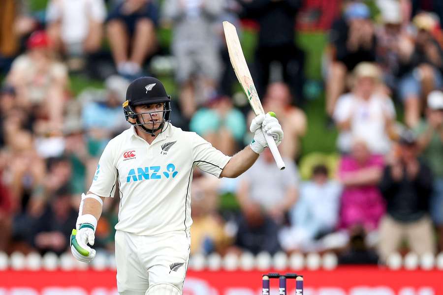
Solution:
<svg viewBox="0 0 443 295">
<path fill-rule="evenodd" d="M 248 64 L 246 63 L 245 56 L 243 55 L 237 30 L 235 29 L 234 25 L 226 21 L 223 22 L 223 29 L 229 52 L 229 59 L 231 60 L 235 75 L 248 96 L 249 104 L 251 105 L 255 115 L 264 114 L 263 106 L 258 98 L 257 90 L 255 89 L 251 73 L 249 72 Z M 267 135 L 266 132 L 263 131 L 263 133 L 266 138 L 266 142 L 268 143 L 268 147 L 274 156 L 274 160 L 277 163 L 277 167 L 279 167 L 280 170 L 285 169 L 285 163 L 283 162 L 282 156 L 280 155 L 274 139 L 272 136 Z"/>
</svg>

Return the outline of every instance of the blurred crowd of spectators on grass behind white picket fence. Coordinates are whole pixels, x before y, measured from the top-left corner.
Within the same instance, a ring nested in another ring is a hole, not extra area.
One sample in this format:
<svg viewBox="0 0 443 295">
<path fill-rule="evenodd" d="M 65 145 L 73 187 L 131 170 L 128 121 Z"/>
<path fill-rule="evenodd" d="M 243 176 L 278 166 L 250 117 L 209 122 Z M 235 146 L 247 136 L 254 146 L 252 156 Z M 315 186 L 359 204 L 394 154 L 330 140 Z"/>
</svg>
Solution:
<svg viewBox="0 0 443 295">
<path fill-rule="evenodd" d="M 396 251 L 443 250 L 442 5 L 338 1 L 322 61 L 324 128 L 338 130 L 340 160 L 309 162 L 302 177 L 310 118 L 295 40 L 306 1 L 48 0 L 38 18 L 28 1 L 3 0 L 0 251 L 68 249 L 98 157 L 128 128 L 127 86 L 152 74 L 158 55 L 173 60 L 174 124 L 226 154 L 249 144 L 253 113 L 233 99 L 222 20 L 240 34 L 258 25 L 251 71 L 285 132 L 286 169 L 265 149 L 236 179 L 195 171 L 191 253 L 336 251 L 342 263 L 383 263 Z M 160 30 L 171 32 L 170 48 Z M 75 96 L 75 75 L 102 88 Z M 118 194 L 104 203 L 95 248 L 113 251 L 118 208 Z"/>
</svg>

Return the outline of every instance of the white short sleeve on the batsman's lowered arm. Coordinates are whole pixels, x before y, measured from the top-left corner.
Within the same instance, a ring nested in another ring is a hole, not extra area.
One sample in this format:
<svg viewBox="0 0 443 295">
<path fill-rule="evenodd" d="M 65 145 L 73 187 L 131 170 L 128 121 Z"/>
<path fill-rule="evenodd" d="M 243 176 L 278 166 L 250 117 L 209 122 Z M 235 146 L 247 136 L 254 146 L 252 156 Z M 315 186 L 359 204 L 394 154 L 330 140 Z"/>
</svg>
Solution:
<svg viewBox="0 0 443 295">
<path fill-rule="evenodd" d="M 100 197 L 113 197 L 116 179 L 117 168 L 114 165 L 111 141 L 101 154 L 89 191 Z"/>
</svg>

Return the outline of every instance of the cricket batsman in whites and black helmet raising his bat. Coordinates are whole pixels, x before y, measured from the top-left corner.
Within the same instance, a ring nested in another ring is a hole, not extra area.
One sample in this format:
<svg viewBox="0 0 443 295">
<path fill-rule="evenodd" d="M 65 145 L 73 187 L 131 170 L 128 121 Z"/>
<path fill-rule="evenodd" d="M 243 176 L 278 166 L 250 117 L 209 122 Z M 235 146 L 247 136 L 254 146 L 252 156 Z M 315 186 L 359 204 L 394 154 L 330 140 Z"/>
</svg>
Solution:
<svg viewBox="0 0 443 295">
<path fill-rule="evenodd" d="M 123 112 L 131 126 L 108 143 L 91 188 L 82 194 L 71 252 L 82 262 L 94 259 L 89 245 L 94 245 L 103 201 L 114 196 L 118 182 L 119 294 L 181 295 L 190 254 L 192 170 L 238 177 L 267 146 L 262 127 L 277 145 L 283 140 L 282 127 L 269 114 L 255 117 L 252 143 L 230 157 L 196 133 L 170 123 L 171 98 L 158 79 L 134 80 L 126 99 Z"/>
</svg>

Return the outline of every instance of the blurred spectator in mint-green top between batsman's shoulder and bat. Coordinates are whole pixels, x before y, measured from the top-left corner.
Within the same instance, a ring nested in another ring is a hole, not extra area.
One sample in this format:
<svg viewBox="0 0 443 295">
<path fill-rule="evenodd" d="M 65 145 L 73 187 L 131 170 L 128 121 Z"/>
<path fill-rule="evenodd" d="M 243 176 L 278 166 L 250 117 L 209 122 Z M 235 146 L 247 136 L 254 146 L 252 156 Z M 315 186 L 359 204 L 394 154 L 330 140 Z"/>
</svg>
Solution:
<svg viewBox="0 0 443 295">
<path fill-rule="evenodd" d="M 226 95 L 214 94 L 207 106 L 192 116 L 190 130 L 195 131 L 224 154 L 234 154 L 239 150 L 239 143 L 242 143 L 245 135 L 245 117 L 233 107 Z"/>
</svg>

